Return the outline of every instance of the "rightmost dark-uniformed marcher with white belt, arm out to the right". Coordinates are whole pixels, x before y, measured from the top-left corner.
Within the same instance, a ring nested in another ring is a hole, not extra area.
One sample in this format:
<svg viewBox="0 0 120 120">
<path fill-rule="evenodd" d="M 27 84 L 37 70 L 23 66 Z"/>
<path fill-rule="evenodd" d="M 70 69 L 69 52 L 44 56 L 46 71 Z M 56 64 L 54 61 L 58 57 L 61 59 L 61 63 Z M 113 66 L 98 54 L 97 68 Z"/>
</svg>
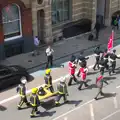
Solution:
<svg viewBox="0 0 120 120">
<path fill-rule="evenodd" d="M 115 73 L 116 59 L 120 59 L 120 57 L 116 55 L 116 50 L 113 50 L 113 52 L 110 54 L 111 66 L 109 68 L 109 75 L 111 75 L 111 73 Z"/>
</svg>

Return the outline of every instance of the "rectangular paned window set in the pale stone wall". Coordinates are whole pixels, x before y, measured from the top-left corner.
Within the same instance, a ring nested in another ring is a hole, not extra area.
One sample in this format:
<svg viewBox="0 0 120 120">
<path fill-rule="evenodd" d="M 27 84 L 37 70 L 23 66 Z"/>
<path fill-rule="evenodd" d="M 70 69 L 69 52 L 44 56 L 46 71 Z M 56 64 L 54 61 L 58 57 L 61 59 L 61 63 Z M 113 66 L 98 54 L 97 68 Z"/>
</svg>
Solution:
<svg viewBox="0 0 120 120">
<path fill-rule="evenodd" d="M 70 0 L 52 0 L 52 24 L 59 24 L 69 20 Z"/>
</svg>

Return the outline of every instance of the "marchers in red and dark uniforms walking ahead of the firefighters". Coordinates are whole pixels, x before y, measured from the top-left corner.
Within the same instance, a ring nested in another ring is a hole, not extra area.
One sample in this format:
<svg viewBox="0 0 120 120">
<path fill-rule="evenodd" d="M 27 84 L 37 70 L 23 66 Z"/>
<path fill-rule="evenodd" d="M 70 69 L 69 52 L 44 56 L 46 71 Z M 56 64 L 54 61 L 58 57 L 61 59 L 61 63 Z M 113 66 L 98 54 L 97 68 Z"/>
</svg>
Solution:
<svg viewBox="0 0 120 120">
<path fill-rule="evenodd" d="M 115 49 L 111 52 L 108 51 L 107 49 L 102 51 L 100 49 L 100 46 L 95 48 L 94 54 L 96 61 L 95 61 L 95 65 L 93 66 L 93 70 L 95 71 L 97 67 L 97 69 L 100 71 L 100 74 L 96 78 L 96 86 L 99 88 L 99 92 L 94 98 L 95 100 L 98 100 L 99 94 L 102 96 L 104 95 L 104 93 L 102 92 L 103 83 L 106 83 L 108 85 L 108 82 L 104 80 L 105 69 L 109 72 L 110 76 L 112 75 L 112 73 L 115 73 L 116 59 L 120 59 L 120 57 L 116 55 Z M 85 87 L 89 86 L 86 81 L 86 77 L 88 73 L 88 67 L 87 67 L 88 59 L 89 57 L 83 56 L 83 52 L 80 54 L 78 58 L 76 58 L 75 56 L 71 57 L 71 60 L 69 62 L 70 79 L 68 81 L 68 86 L 71 85 L 72 80 L 80 84 L 78 87 L 79 90 L 82 89 L 83 85 Z M 79 64 L 79 71 L 77 73 L 77 77 L 80 76 L 81 80 L 78 80 L 75 76 L 77 64 Z"/>
</svg>

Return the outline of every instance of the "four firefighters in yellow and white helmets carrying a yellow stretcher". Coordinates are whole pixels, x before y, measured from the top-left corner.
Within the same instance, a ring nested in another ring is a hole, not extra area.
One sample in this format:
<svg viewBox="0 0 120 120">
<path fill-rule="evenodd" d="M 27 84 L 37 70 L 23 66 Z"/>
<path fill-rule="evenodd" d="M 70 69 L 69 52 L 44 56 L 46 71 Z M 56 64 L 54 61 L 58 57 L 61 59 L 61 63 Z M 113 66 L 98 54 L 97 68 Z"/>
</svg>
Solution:
<svg viewBox="0 0 120 120">
<path fill-rule="evenodd" d="M 46 69 L 45 71 L 45 76 L 44 76 L 44 81 L 45 81 L 45 87 L 47 87 L 51 93 L 54 93 L 54 88 L 52 84 L 52 76 L 51 76 L 51 69 Z M 21 80 L 21 84 L 18 85 L 17 87 L 17 93 L 19 93 L 21 100 L 18 104 L 18 110 L 22 109 L 22 105 L 25 103 L 28 107 L 32 108 L 30 117 L 35 117 L 36 115 L 40 114 L 40 111 L 38 111 L 38 107 L 41 105 L 41 101 L 39 99 L 39 95 L 45 95 L 45 91 L 43 87 L 40 88 L 33 88 L 31 90 L 31 95 L 29 102 L 27 100 L 27 93 L 26 93 L 26 83 L 27 80 Z M 67 100 L 68 96 L 68 91 L 67 91 L 67 85 L 66 85 L 66 78 L 61 77 L 60 82 L 57 85 L 57 95 L 55 98 L 55 105 L 59 105 L 59 101 L 61 97 L 64 98 L 64 102 L 68 102 Z"/>
</svg>

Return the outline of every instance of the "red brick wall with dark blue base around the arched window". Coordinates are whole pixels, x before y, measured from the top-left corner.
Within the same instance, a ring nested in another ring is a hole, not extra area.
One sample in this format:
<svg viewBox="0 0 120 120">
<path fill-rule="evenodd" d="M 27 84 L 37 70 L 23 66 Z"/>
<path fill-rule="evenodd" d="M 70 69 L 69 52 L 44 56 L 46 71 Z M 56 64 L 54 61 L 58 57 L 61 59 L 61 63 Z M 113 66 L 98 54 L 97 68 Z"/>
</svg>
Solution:
<svg viewBox="0 0 120 120">
<path fill-rule="evenodd" d="M 2 9 L 8 4 L 17 4 L 21 12 L 22 37 L 10 41 L 4 41 L 3 24 L 2 24 Z M 32 38 L 32 14 L 31 8 L 26 7 L 20 0 L 0 0 L 0 59 L 5 58 L 5 45 L 19 44 L 22 41 L 23 52 L 29 52 L 33 49 Z M 28 45 L 31 47 L 28 48 Z"/>
</svg>

